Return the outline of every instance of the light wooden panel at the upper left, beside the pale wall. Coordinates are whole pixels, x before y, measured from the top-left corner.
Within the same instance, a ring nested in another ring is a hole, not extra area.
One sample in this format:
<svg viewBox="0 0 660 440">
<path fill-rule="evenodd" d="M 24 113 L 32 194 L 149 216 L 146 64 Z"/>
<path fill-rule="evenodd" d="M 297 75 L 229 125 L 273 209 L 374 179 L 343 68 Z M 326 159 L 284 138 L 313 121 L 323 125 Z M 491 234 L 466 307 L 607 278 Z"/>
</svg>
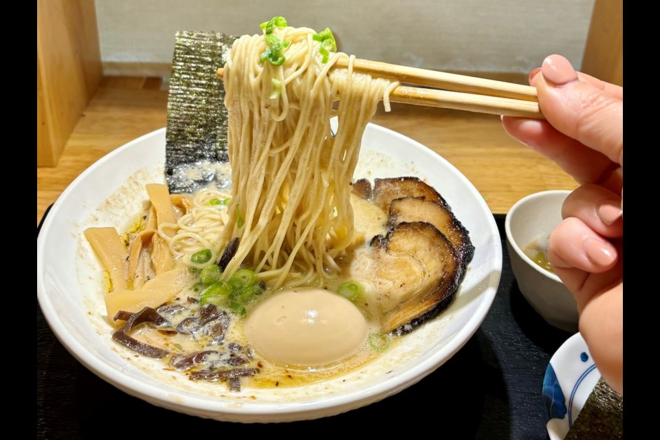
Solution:
<svg viewBox="0 0 660 440">
<path fill-rule="evenodd" d="M 36 2 L 36 165 L 54 166 L 102 77 L 94 0 Z"/>
</svg>

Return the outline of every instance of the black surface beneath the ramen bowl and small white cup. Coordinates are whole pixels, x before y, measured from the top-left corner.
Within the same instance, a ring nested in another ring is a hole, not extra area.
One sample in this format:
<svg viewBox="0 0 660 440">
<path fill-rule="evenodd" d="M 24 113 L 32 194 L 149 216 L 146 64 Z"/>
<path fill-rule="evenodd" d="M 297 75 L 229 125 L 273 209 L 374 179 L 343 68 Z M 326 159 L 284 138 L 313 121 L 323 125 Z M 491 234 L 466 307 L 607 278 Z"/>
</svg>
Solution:
<svg viewBox="0 0 660 440">
<path fill-rule="evenodd" d="M 36 308 L 36 434 L 39 439 L 173 435 L 408 433 L 445 439 L 547 439 L 541 389 L 553 353 L 571 334 L 548 325 L 520 294 L 503 248 L 496 298 L 481 327 L 436 371 L 397 395 L 342 415 L 291 423 L 229 423 L 158 408 L 104 382 L 54 336 Z M 39 229 L 37 229 L 39 234 Z M 325 437 L 325 436 L 323 436 Z M 181 438 L 181 437 L 179 437 Z"/>
</svg>

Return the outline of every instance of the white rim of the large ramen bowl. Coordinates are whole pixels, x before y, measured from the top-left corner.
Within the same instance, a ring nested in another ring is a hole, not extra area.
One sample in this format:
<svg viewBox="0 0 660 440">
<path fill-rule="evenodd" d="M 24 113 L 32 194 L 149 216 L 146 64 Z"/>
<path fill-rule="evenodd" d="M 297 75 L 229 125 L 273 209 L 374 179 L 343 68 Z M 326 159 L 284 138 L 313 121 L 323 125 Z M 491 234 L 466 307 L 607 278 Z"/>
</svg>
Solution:
<svg viewBox="0 0 660 440">
<path fill-rule="evenodd" d="M 386 129 L 377 124 L 369 123 L 369 129 L 375 131 L 384 131 L 387 135 L 392 137 L 404 138 L 408 143 L 415 144 L 417 148 L 423 148 L 428 150 L 428 153 L 431 153 L 439 161 L 445 162 L 451 168 L 454 168 L 457 173 L 457 177 L 461 179 L 464 183 L 467 184 L 467 188 L 470 191 L 474 192 L 476 195 L 479 195 L 476 188 L 472 182 L 470 182 L 463 173 L 461 173 L 457 168 L 450 164 L 446 159 L 441 155 L 430 150 L 430 148 L 424 146 L 423 144 L 413 140 L 412 138 L 397 133 L 391 129 Z M 64 347 L 71 353 L 78 362 L 85 365 L 94 374 L 101 377 L 106 382 L 113 384 L 120 390 L 144 399 L 151 404 L 157 406 L 162 406 L 170 410 L 175 410 L 179 412 L 184 412 L 189 415 L 197 415 L 199 417 L 208 417 L 217 420 L 225 421 L 241 421 L 241 422 L 259 422 L 259 421 L 295 421 L 295 420 L 307 420 L 318 417 L 325 417 L 330 415 L 336 415 L 340 412 L 345 412 L 347 410 L 352 410 L 360 408 L 367 404 L 371 404 L 375 401 L 384 399 L 399 391 L 408 388 L 412 384 L 419 382 L 419 380 L 426 377 L 426 375 L 432 373 L 439 366 L 447 362 L 454 354 L 456 354 L 459 349 L 463 347 L 465 343 L 476 333 L 483 320 L 487 316 L 492 303 L 496 296 L 496 292 L 500 283 L 500 277 L 503 267 L 503 251 L 500 240 L 494 240 L 494 243 L 489 245 L 494 246 L 494 259 L 491 271 L 489 272 L 488 278 L 485 279 L 487 286 L 481 292 L 481 301 L 476 307 L 474 314 L 470 316 L 469 319 L 465 320 L 465 323 L 457 331 L 452 338 L 450 338 L 443 347 L 438 350 L 434 355 L 428 357 L 423 362 L 416 364 L 414 368 L 409 369 L 408 371 L 401 373 L 399 379 L 391 382 L 391 386 L 384 387 L 382 384 L 388 382 L 380 382 L 378 384 L 372 384 L 368 388 L 360 388 L 352 391 L 342 392 L 340 395 L 325 395 L 324 399 L 321 402 L 314 402 L 310 404 L 307 402 L 292 402 L 292 403 L 281 403 L 281 402 L 257 402 L 252 404 L 248 402 L 242 406 L 235 406 L 232 402 L 211 402 L 208 396 L 191 396 L 186 395 L 184 397 L 185 403 L 180 403 L 172 399 L 173 391 L 171 389 L 160 389 L 151 384 L 144 384 L 140 382 L 135 377 L 130 375 L 123 374 L 115 370 L 112 366 L 107 364 L 100 356 L 92 353 L 82 341 L 76 339 L 72 333 L 66 331 L 63 327 L 63 316 L 59 316 L 54 304 L 52 303 L 49 294 L 46 292 L 45 280 L 43 277 L 43 253 L 44 246 L 47 236 L 52 234 L 52 228 L 54 225 L 54 219 L 58 217 L 58 212 L 61 210 L 65 199 L 75 190 L 75 188 L 83 181 L 88 175 L 95 173 L 98 168 L 101 168 L 105 163 L 111 161 L 115 155 L 120 155 L 122 151 L 131 148 L 135 144 L 141 144 L 145 140 L 150 139 L 151 137 L 157 137 L 163 135 L 165 128 L 157 129 L 146 133 L 140 137 L 135 138 L 115 148 L 113 151 L 110 151 L 100 159 L 98 159 L 94 164 L 91 164 L 83 173 L 80 173 L 74 181 L 72 181 L 69 186 L 61 193 L 60 197 L 54 202 L 52 209 L 50 210 L 49 215 L 43 219 L 43 224 L 39 236 L 37 237 L 37 299 L 39 305 L 43 312 L 43 316 L 47 321 L 48 325 L 51 327 L 56 338 L 64 345 Z M 476 203 L 481 206 L 481 209 L 485 212 L 490 212 L 485 200 L 479 195 L 475 197 Z M 499 237 L 497 225 L 494 217 L 491 215 L 486 219 L 489 224 L 489 232 L 494 232 L 496 236 Z M 437 353 L 444 353 L 441 357 Z M 213 404 L 212 404 L 213 403 Z M 332 409 L 332 410 L 330 410 Z M 220 416 L 220 417 L 219 417 Z M 222 417 L 224 416 L 224 417 Z M 259 418 L 261 416 L 262 418 Z"/>
</svg>

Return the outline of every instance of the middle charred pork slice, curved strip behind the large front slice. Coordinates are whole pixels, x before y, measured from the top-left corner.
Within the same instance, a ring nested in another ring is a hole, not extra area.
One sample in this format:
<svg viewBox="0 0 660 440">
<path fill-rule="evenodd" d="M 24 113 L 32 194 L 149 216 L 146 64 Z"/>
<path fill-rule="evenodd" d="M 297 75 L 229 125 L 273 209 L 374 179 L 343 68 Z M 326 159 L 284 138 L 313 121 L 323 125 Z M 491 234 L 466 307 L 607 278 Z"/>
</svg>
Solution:
<svg viewBox="0 0 660 440">
<path fill-rule="evenodd" d="M 447 205 L 423 197 L 395 199 L 390 204 L 389 216 L 389 226 L 397 225 L 402 221 L 426 221 L 434 225 L 452 243 L 459 264 L 465 272 L 467 263 L 470 263 L 474 255 L 474 245 L 470 241 L 467 229 L 456 219 Z"/>
</svg>

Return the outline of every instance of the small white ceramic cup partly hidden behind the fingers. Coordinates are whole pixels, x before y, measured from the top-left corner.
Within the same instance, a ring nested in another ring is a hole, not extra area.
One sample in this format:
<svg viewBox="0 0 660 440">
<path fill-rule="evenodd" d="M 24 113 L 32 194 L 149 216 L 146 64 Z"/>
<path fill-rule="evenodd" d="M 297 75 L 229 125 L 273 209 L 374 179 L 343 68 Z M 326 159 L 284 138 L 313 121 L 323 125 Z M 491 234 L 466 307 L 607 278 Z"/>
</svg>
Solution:
<svg viewBox="0 0 660 440">
<path fill-rule="evenodd" d="M 518 200 L 507 213 L 505 230 L 511 269 L 520 292 L 546 322 L 577 332 L 577 303 L 573 294 L 553 272 L 543 269 L 525 247 L 540 236 L 549 236 L 562 221 L 562 203 L 569 190 L 536 192 Z"/>
</svg>

